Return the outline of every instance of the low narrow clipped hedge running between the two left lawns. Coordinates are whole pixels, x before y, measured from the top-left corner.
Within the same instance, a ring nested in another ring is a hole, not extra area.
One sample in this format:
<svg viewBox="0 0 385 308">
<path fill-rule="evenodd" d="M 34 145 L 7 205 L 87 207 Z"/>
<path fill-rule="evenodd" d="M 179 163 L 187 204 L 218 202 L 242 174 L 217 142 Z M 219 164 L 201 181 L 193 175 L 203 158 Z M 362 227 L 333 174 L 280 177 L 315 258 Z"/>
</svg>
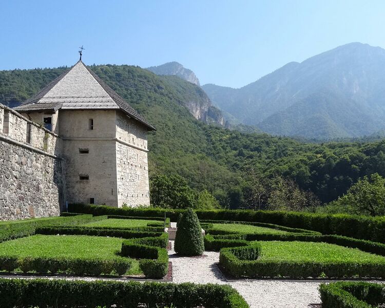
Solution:
<svg viewBox="0 0 385 308">
<path fill-rule="evenodd" d="M 123 239 L 132 239 L 132 238 L 143 238 L 143 237 L 159 237 L 163 232 L 155 231 L 137 231 L 137 230 L 127 230 L 127 229 L 109 229 L 109 228 L 94 228 L 94 227 L 38 227 L 35 230 L 36 234 L 43 235 L 90 235 L 90 236 L 109 236 L 109 237 L 119 237 Z"/>
</svg>

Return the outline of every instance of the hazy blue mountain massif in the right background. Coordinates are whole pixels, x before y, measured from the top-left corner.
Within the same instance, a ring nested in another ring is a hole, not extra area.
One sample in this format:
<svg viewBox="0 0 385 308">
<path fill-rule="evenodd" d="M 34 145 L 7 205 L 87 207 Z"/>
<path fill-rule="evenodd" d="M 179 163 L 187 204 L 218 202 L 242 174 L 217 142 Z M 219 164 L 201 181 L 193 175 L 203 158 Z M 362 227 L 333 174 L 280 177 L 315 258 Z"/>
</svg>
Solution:
<svg viewBox="0 0 385 308">
<path fill-rule="evenodd" d="M 288 63 L 239 89 L 202 88 L 225 115 L 272 134 L 333 139 L 385 128 L 385 50 L 368 44 Z"/>
</svg>

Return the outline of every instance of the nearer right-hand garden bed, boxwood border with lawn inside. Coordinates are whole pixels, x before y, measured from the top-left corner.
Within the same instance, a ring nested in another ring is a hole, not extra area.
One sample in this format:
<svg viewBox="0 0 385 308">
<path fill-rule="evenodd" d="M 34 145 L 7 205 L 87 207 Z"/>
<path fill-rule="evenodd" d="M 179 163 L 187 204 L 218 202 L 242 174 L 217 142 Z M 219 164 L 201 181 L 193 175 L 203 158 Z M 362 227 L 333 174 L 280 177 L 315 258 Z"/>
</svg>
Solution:
<svg viewBox="0 0 385 308">
<path fill-rule="evenodd" d="M 385 278 L 384 257 L 322 242 L 252 242 L 222 248 L 219 262 L 235 278 Z"/>
</svg>

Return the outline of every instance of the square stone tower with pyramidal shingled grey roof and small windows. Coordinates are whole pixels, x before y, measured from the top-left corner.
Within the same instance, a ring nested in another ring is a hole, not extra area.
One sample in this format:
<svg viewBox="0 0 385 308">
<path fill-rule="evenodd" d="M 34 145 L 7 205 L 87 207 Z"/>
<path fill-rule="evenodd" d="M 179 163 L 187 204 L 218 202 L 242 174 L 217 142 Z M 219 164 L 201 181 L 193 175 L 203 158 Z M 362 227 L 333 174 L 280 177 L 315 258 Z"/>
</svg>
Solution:
<svg viewBox="0 0 385 308">
<path fill-rule="evenodd" d="M 149 205 L 147 132 L 155 127 L 82 61 L 14 110 L 62 139 L 62 203 Z"/>
</svg>

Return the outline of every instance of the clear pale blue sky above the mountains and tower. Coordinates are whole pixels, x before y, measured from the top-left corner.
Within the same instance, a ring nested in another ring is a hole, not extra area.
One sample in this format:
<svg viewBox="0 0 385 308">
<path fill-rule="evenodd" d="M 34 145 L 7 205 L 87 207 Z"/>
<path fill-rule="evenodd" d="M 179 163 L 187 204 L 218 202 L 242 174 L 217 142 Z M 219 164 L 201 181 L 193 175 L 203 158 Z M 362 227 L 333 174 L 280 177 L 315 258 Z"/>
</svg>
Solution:
<svg viewBox="0 0 385 308">
<path fill-rule="evenodd" d="M 0 69 L 178 61 L 241 87 L 337 46 L 385 47 L 385 1 L 1 1 Z"/>
</svg>

